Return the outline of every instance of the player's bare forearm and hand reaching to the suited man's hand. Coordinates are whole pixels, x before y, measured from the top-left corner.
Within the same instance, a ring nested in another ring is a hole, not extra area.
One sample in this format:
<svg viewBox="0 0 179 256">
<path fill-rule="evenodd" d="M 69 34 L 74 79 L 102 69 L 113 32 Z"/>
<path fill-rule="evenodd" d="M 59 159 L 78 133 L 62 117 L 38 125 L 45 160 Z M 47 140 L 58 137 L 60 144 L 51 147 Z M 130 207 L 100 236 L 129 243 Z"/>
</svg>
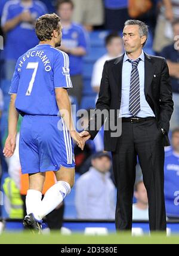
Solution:
<svg viewBox="0 0 179 256">
<path fill-rule="evenodd" d="M 76 141 L 78 146 L 84 150 L 84 139 L 81 139 L 73 124 L 72 107 L 67 90 L 64 88 L 56 88 L 55 95 L 60 115 L 63 118 L 71 137 Z"/>
</svg>

